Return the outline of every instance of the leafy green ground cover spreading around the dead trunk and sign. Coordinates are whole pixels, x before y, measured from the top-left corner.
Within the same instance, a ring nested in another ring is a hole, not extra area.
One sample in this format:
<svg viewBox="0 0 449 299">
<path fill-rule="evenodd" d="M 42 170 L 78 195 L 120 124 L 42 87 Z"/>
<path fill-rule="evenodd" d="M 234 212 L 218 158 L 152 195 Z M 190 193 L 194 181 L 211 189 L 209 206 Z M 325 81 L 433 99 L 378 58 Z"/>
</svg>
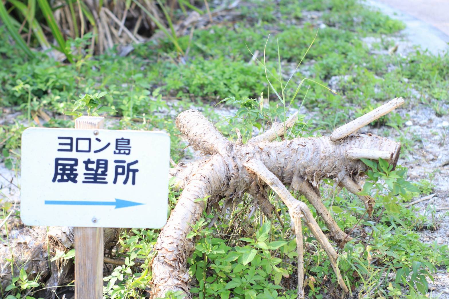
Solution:
<svg viewBox="0 0 449 299">
<path fill-rule="evenodd" d="M 237 20 L 214 22 L 179 37 L 176 43 L 188 53 L 181 58 L 171 38 L 137 44 L 124 57 L 114 49 L 93 57 L 74 51 L 73 63 L 49 59 L 45 53 L 30 58 L 13 43 L 2 43 L 0 149 L 5 167 L 20 173 L 20 134 L 26 127 L 73 127 L 66 112 L 73 110 L 74 101 L 103 91 L 107 96 L 101 97 L 101 105 L 116 111 L 108 110 L 108 128 L 165 130 L 171 135 L 176 162 L 191 158 L 183 151 L 185 144 L 173 121 L 187 108 L 201 109 L 225 133 L 240 128 L 245 139 L 299 109 L 293 138 L 329 133 L 396 96 L 405 97 L 409 109 L 390 113 L 366 130 L 401 141 L 403 156 L 409 160 L 417 151 L 426 151 L 426 144 L 447 148 L 449 125 L 437 129 L 435 124 L 447 119 L 449 53 L 434 56 L 408 49 L 402 55 L 395 50 L 398 31 L 404 28 L 401 22 L 355 0 L 248 1 L 233 12 L 239 15 Z M 0 36 L 10 40 L 3 26 Z M 87 44 L 89 36 L 75 42 Z M 251 53 L 258 53 L 257 59 Z M 418 108 L 435 115 L 429 126 L 440 139 L 424 142 L 427 136 L 405 126 Z M 426 208 L 418 213 L 419 208 L 405 207 L 420 194 L 448 188 L 436 178 L 445 166 L 436 165 L 441 159 L 437 155 L 433 169 L 425 169 L 413 184 L 407 182 L 410 170 L 392 171 L 382 160 L 367 161 L 372 170 L 364 191 L 377 203 L 371 218 L 357 198 L 332 182 L 321 190 L 339 226 L 354 237 L 339 249 L 349 296 L 420 298 L 428 293 L 436 271 L 449 267 L 447 242 L 422 242 L 421 234 L 438 230 L 444 212 Z M 401 161 L 414 170 L 409 160 Z M 5 221 L 0 241 L 8 244 L 19 211 L 4 189 L 1 195 L 0 221 Z M 170 209 L 178 195 L 171 189 Z M 285 226 L 252 211 L 248 196 L 228 214 L 205 212 L 192 224 L 189 237 L 195 238 L 196 250 L 189 258 L 189 274 L 194 297 L 296 297 L 296 245 L 289 215 L 273 194 L 270 199 L 286 219 Z M 305 227 L 304 235 L 306 295 L 341 295 L 326 255 Z M 148 296 L 157 237 L 158 230 L 123 231 L 113 254 L 124 265 L 108 266 L 106 298 Z M 10 287 L 0 290 L 2 298 L 31 298 L 42 287 L 22 272 Z M 62 287 L 61 292 L 69 289 Z"/>
</svg>

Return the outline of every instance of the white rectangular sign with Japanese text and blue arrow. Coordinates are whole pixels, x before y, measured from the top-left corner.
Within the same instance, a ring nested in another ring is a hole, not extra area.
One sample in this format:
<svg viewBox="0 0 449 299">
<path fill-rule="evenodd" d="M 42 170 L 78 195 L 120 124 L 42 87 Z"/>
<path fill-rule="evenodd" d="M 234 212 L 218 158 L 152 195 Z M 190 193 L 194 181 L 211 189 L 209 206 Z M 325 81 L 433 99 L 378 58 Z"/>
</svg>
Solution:
<svg viewBox="0 0 449 299">
<path fill-rule="evenodd" d="M 27 225 L 161 228 L 170 138 L 162 132 L 29 128 L 22 134 Z"/>
</svg>

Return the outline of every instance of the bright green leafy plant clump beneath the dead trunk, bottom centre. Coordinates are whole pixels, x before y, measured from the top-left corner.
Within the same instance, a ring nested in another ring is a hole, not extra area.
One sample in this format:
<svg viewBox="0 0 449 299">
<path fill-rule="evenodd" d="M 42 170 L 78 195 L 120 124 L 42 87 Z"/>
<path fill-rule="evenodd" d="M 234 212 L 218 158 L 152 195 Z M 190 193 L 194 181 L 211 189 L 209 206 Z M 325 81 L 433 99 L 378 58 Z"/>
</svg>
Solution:
<svg viewBox="0 0 449 299">
<path fill-rule="evenodd" d="M 282 277 L 289 277 L 293 266 L 275 253 L 294 258 L 295 239 L 271 241 L 272 222 L 267 221 L 253 238 L 239 238 L 241 246 L 229 247 L 225 239 L 212 237 L 211 229 L 205 228 L 208 222 L 204 218 L 198 221 L 188 236 L 201 236 L 189 259 L 189 274 L 198 281 L 191 292 L 199 298 L 214 294 L 221 298 L 276 298 Z M 207 273 L 207 269 L 212 271 Z"/>
</svg>

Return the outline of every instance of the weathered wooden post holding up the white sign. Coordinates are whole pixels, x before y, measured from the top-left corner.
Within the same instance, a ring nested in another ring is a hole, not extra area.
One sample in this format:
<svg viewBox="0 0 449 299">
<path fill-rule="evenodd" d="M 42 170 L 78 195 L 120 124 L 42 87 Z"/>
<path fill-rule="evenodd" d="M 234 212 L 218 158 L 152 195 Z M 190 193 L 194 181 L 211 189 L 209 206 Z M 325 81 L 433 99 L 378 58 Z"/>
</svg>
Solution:
<svg viewBox="0 0 449 299">
<path fill-rule="evenodd" d="M 75 129 L 103 127 L 104 117 L 82 116 L 75 120 Z M 103 297 L 103 252 L 102 227 L 75 227 L 75 299 Z"/>
</svg>

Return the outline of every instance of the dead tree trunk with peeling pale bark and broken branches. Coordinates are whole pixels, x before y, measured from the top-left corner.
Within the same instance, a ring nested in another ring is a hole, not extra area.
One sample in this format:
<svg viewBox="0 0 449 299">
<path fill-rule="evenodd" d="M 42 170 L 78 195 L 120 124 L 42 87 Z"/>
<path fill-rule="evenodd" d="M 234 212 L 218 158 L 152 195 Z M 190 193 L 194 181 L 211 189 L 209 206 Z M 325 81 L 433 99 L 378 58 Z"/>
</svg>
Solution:
<svg viewBox="0 0 449 299">
<path fill-rule="evenodd" d="M 190 225 L 198 221 L 205 208 L 203 201 L 195 202 L 195 199 L 211 195 L 208 204 L 213 204 L 220 199 L 233 200 L 248 192 L 253 195 L 254 204 L 263 206 L 264 212 L 268 212 L 271 204 L 267 201 L 265 182 L 273 188 L 279 187 L 273 183 L 270 174 L 282 184 L 290 185 L 293 190 L 301 192 L 309 200 L 330 230 L 330 238 L 339 245 L 347 242 L 350 238 L 336 225 L 322 204 L 318 185 L 323 178 L 333 178 L 347 187 L 348 191 L 359 192 L 361 187 L 357 180 L 367 169 L 360 158 L 382 157 L 396 166 L 400 143 L 373 134 L 353 133 L 403 103 L 402 98 L 391 100 L 339 127 L 330 137 L 271 142 L 285 132 L 285 126 L 273 125 L 270 130 L 246 144 L 242 144 L 240 139 L 236 143 L 225 139 L 198 111 L 188 110 L 180 113 L 176 118 L 176 126 L 185 134 L 189 145 L 208 157 L 187 165 L 179 164 L 171 170 L 171 174 L 177 178 L 178 186 L 182 186 L 184 190 L 155 246 L 158 253 L 153 260 L 153 297 L 164 297 L 168 290 L 181 290 L 190 297 L 186 259 L 194 250 L 194 244 L 186 236 L 191 229 Z M 292 126 L 294 121 L 293 117 L 285 125 Z M 250 161 L 253 161 L 252 164 Z M 256 169 L 251 169 L 254 163 L 262 165 L 268 175 L 261 176 Z M 248 169 L 251 169 L 251 173 Z M 258 176 L 261 180 L 257 179 Z M 269 181 L 264 181 L 265 179 Z M 371 214 L 374 200 L 369 196 L 359 197 Z M 291 209 L 296 206 L 301 208 L 296 212 L 289 212 L 296 213 L 299 217 L 308 215 L 305 204 L 287 204 Z M 308 225 L 312 223 L 310 217 L 304 216 L 304 219 Z M 312 231 L 324 236 L 321 230 L 318 230 L 319 227 Z M 321 238 L 321 242 L 332 264 L 337 258 L 336 252 L 327 245 L 327 239 Z M 339 269 L 336 264 L 332 265 L 336 276 L 339 277 Z M 339 279 L 339 284 L 344 291 L 348 290 L 343 280 Z"/>
</svg>

